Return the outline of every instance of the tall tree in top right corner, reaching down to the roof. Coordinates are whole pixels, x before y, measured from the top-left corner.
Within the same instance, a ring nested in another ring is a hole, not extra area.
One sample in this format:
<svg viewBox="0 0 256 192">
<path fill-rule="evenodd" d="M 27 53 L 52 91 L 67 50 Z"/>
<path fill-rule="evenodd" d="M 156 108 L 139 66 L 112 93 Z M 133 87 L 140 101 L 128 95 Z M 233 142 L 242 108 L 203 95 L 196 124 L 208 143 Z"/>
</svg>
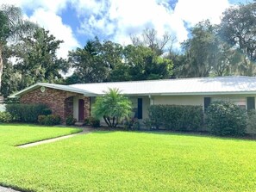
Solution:
<svg viewBox="0 0 256 192">
<path fill-rule="evenodd" d="M 223 13 L 219 35 L 236 50 L 239 74 L 253 76 L 256 62 L 256 2 L 240 4 Z"/>
</svg>

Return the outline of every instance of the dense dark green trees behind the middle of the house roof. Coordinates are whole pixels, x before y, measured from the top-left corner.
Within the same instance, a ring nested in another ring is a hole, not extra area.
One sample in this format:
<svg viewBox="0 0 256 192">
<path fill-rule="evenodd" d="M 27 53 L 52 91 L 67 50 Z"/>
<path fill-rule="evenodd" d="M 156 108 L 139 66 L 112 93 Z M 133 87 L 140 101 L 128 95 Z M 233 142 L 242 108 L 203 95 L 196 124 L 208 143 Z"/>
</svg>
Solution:
<svg viewBox="0 0 256 192">
<path fill-rule="evenodd" d="M 131 81 L 172 76 L 172 60 L 159 57 L 146 46 L 121 46 L 109 40 L 89 40 L 69 53 L 75 71 L 66 84 Z"/>
</svg>

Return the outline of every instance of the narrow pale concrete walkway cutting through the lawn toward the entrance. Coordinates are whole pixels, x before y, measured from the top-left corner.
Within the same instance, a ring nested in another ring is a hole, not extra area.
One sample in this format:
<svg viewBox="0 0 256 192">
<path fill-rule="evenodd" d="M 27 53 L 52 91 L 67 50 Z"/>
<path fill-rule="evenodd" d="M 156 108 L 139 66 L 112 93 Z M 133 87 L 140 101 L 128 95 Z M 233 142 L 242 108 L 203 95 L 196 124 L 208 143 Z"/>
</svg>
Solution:
<svg viewBox="0 0 256 192">
<path fill-rule="evenodd" d="M 65 135 L 65 136 L 60 136 L 58 138 L 53 138 L 53 139 L 45 139 L 45 140 L 41 140 L 41 141 L 36 141 L 34 143 L 28 143 L 28 144 L 24 144 L 22 146 L 17 146 L 19 148 L 27 148 L 27 147 L 31 147 L 31 146 L 39 146 L 41 144 L 46 144 L 46 143 L 53 143 L 57 140 L 62 140 L 62 139 L 68 139 L 68 138 L 72 138 L 78 134 L 86 134 L 86 133 L 91 133 L 92 129 L 91 128 L 83 128 L 83 132 L 80 133 L 73 133 L 73 134 L 69 134 L 69 135 Z M 0 190 L 1 192 L 1 190 Z"/>
</svg>

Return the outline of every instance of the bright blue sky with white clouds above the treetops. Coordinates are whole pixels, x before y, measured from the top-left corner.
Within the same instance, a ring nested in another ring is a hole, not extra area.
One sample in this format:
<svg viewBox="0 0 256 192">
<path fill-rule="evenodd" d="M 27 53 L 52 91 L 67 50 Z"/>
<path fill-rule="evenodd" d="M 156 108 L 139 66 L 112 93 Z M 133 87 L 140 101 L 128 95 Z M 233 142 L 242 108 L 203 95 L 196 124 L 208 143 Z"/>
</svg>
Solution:
<svg viewBox="0 0 256 192">
<path fill-rule="evenodd" d="M 159 37 L 176 37 L 175 47 L 188 38 L 189 28 L 209 19 L 217 24 L 229 6 L 253 0 L 1 0 L 22 8 L 24 18 L 50 31 L 61 44 L 58 56 L 83 47 L 87 40 L 130 43 L 130 35 L 154 28 Z"/>
</svg>

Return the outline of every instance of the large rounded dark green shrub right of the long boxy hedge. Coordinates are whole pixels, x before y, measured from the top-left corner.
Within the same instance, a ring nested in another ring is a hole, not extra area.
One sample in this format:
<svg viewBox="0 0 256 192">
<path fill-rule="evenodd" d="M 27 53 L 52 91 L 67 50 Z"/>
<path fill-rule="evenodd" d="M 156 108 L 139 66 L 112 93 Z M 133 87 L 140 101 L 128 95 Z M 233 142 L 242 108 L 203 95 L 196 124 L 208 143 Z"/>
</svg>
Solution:
<svg viewBox="0 0 256 192">
<path fill-rule="evenodd" d="M 232 102 L 213 102 L 207 109 L 206 123 L 215 135 L 243 135 L 247 128 L 247 112 Z"/>
</svg>

